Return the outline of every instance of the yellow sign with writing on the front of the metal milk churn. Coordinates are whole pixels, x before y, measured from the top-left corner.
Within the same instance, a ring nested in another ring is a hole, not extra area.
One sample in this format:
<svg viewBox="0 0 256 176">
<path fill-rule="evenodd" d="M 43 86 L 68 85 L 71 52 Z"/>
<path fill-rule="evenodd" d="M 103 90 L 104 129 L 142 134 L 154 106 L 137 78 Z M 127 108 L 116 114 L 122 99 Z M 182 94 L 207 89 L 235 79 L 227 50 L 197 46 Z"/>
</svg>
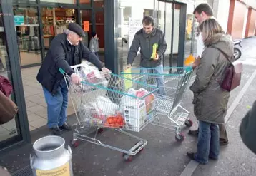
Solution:
<svg viewBox="0 0 256 176">
<path fill-rule="evenodd" d="M 54 170 L 36 170 L 36 176 L 70 176 L 69 162 Z"/>
</svg>

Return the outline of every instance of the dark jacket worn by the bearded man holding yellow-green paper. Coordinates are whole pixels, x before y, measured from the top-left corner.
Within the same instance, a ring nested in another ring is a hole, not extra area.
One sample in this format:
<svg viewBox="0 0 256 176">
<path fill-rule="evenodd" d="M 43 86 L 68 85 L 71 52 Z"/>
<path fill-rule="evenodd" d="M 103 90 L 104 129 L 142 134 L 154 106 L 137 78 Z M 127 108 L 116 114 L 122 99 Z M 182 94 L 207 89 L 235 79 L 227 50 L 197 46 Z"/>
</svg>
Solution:
<svg viewBox="0 0 256 176">
<path fill-rule="evenodd" d="M 157 53 L 159 59 L 157 61 L 151 58 L 154 43 L 158 44 Z M 141 54 L 140 66 L 149 68 L 161 65 L 167 48 L 164 33 L 157 28 L 154 28 L 150 34 L 145 33 L 143 29 L 137 31 L 132 41 L 132 46 L 129 49 L 127 64 L 132 65 L 139 48 Z"/>
</svg>

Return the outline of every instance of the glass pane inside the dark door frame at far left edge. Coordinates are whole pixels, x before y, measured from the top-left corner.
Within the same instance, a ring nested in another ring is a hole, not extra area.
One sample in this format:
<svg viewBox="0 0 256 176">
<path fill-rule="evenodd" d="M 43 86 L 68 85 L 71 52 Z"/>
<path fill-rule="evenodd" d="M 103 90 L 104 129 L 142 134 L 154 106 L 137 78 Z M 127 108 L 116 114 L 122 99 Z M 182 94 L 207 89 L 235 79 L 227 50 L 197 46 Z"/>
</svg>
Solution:
<svg viewBox="0 0 256 176">
<path fill-rule="evenodd" d="M 4 76 L 12 81 L 11 75 L 11 66 L 10 66 L 10 58 L 7 51 L 7 43 L 6 43 L 6 31 L 4 30 L 4 21 L 3 14 L 0 7 L 0 75 Z M 15 102 L 14 93 L 10 96 L 11 100 Z M 19 127 L 18 115 L 8 123 L 4 125 L 0 125 L 0 148 L 4 148 L 5 145 L 10 145 L 9 143 L 4 143 L 6 140 L 14 138 L 15 141 L 21 140 L 21 130 Z"/>
</svg>

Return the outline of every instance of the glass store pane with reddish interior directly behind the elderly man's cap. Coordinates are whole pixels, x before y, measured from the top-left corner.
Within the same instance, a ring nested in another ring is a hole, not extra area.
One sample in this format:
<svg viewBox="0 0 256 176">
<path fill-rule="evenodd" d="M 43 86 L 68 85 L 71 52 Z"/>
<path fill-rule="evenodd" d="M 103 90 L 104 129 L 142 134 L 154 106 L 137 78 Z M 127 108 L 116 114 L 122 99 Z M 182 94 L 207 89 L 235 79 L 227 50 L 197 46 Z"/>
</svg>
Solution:
<svg viewBox="0 0 256 176">
<path fill-rule="evenodd" d="M 44 49 L 48 51 L 52 39 L 63 33 L 70 22 L 75 22 L 77 13 L 75 9 L 43 7 L 41 9 Z"/>
</svg>

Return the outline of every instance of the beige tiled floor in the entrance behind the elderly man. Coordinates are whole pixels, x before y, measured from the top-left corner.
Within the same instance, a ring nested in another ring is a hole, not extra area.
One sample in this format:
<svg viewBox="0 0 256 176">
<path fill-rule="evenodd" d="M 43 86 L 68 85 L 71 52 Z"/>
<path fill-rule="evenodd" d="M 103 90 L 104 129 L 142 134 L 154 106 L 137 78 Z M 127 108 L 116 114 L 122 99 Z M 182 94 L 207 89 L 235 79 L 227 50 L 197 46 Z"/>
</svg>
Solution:
<svg viewBox="0 0 256 176">
<path fill-rule="evenodd" d="M 26 100 L 26 112 L 30 130 L 39 128 L 47 123 L 47 109 L 41 84 L 36 80 L 39 66 L 21 69 L 23 88 Z M 74 113 L 69 101 L 67 115 Z"/>
</svg>

